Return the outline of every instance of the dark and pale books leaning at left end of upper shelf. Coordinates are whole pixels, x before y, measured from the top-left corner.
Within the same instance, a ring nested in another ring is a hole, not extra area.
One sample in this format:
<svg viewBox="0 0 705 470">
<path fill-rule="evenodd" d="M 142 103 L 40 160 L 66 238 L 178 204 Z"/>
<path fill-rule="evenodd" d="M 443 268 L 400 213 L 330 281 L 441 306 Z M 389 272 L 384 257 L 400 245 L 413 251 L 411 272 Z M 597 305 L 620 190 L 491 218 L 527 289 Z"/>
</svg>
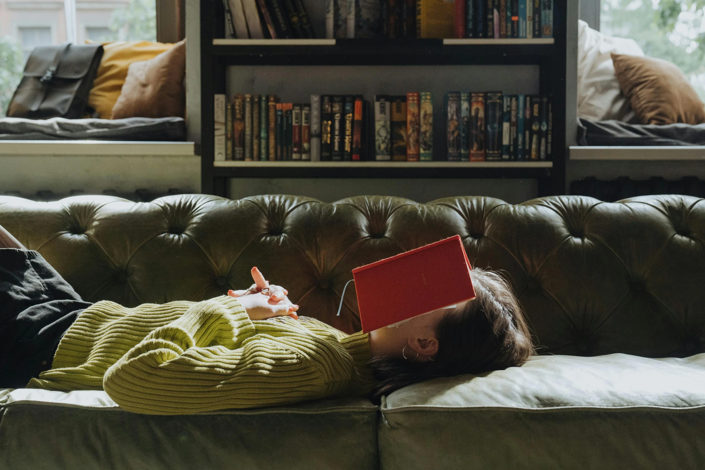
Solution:
<svg viewBox="0 0 705 470">
<path fill-rule="evenodd" d="M 302 0 L 223 0 L 226 29 L 238 39 L 315 38 Z"/>
</svg>

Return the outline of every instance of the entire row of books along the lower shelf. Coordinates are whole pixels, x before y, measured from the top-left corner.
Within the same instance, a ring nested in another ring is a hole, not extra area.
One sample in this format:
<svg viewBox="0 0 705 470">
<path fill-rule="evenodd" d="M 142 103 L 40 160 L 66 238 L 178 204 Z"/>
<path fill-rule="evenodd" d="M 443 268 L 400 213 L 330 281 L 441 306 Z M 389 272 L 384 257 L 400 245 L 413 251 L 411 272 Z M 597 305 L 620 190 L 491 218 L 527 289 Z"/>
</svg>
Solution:
<svg viewBox="0 0 705 470">
<path fill-rule="evenodd" d="M 430 92 L 311 95 L 282 103 L 274 94 L 224 94 L 214 100 L 216 160 L 432 161 Z M 443 113 L 448 161 L 550 160 L 550 95 L 448 92 Z"/>
</svg>

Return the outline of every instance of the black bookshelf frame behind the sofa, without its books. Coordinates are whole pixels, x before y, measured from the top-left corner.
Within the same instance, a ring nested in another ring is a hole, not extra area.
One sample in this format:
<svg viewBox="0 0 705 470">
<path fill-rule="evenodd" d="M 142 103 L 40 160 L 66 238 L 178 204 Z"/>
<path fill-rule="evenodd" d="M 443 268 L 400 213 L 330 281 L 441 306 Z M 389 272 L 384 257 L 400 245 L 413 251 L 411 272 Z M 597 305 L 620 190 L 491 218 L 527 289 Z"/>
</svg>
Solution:
<svg viewBox="0 0 705 470">
<path fill-rule="evenodd" d="M 228 178 L 535 178 L 540 196 L 565 194 L 568 2 L 553 8 L 551 39 L 224 39 L 221 2 L 200 0 L 202 192 L 225 196 Z M 456 65 L 539 66 L 539 93 L 553 94 L 553 161 L 214 161 L 213 95 L 226 92 L 228 66 Z"/>
</svg>

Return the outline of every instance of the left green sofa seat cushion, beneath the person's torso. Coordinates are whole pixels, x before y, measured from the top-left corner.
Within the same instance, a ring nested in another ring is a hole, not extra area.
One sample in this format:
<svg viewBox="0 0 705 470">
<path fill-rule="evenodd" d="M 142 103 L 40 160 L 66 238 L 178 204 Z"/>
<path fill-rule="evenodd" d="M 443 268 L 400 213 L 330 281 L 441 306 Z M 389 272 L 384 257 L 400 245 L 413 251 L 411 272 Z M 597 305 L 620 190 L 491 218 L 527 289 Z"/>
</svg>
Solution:
<svg viewBox="0 0 705 470">
<path fill-rule="evenodd" d="M 377 412 L 341 398 L 154 416 L 103 391 L 0 390 L 0 469 L 376 469 Z"/>
</svg>

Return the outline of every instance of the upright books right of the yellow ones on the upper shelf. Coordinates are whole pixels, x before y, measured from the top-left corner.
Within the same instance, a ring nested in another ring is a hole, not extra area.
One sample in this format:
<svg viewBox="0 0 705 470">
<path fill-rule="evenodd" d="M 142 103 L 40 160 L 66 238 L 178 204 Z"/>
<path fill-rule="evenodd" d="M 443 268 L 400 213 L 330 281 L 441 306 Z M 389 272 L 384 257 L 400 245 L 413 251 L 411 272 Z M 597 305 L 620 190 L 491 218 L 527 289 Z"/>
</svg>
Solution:
<svg viewBox="0 0 705 470">
<path fill-rule="evenodd" d="M 455 37 L 553 37 L 553 0 L 455 0 Z"/>
</svg>

